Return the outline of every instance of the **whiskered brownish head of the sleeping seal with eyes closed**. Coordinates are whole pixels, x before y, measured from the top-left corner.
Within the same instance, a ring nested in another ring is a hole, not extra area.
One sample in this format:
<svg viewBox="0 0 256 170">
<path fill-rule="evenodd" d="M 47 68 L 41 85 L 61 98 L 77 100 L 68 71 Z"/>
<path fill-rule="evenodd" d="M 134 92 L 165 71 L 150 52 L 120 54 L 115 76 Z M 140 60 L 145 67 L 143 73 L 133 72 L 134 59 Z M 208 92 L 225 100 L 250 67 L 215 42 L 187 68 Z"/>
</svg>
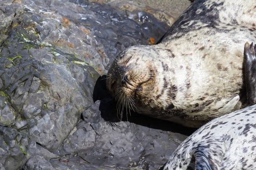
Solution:
<svg viewBox="0 0 256 170">
<path fill-rule="evenodd" d="M 168 106 L 166 102 L 156 100 L 168 84 L 166 80 L 161 85 L 163 71 L 158 68 L 161 62 L 156 59 L 157 56 L 159 51 L 151 46 L 133 46 L 116 57 L 108 71 L 107 88 L 119 105 L 139 113 L 137 107 L 157 109 Z"/>
</svg>

